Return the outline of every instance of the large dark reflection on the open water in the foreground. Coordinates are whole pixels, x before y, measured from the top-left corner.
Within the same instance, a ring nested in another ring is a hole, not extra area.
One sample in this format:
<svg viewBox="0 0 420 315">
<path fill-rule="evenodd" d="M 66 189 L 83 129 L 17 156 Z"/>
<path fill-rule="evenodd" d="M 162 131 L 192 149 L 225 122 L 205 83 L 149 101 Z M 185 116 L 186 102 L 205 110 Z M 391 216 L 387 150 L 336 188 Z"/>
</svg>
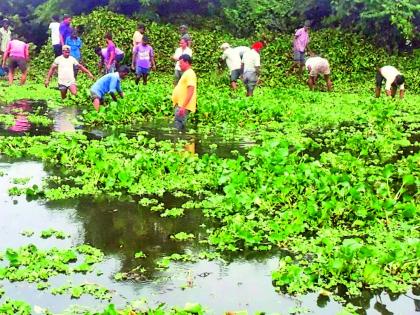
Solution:
<svg viewBox="0 0 420 315">
<path fill-rule="evenodd" d="M 165 196 L 168 208 L 180 207 L 182 199 Z M 62 207 L 66 202 L 49 202 L 48 208 Z M 199 241 L 204 236 L 205 221 L 198 210 L 187 210 L 180 218 L 163 218 L 159 212 L 152 212 L 134 202 L 109 202 L 80 200 L 75 206 L 78 219 L 83 222 L 85 242 L 100 248 L 107 255 L 118 255 L 121 270 L 130 271 L 138 266 L 134 259 L 138 251 L 147 258 L 142 266 L 147 269 L 147 277 L 156 272 L 156 261 L 162 256 L 182 253 L 185 250 L 197 252 Z M 209 222 L 207 222 L 207 225 Z M 177 242 L 170 238 L 178 232 L 193 233 L 194 241 Z"/>
</svg>

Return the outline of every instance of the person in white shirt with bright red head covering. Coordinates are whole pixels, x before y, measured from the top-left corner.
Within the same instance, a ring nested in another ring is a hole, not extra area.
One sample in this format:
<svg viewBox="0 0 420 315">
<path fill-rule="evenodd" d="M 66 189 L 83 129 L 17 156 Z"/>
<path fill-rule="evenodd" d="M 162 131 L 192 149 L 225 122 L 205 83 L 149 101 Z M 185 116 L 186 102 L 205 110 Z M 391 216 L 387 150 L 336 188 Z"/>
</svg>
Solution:
<svg viewBox="0 0 420 315">
<path fill-rule="evenodd" d="M 263 46 L 261 42 L 254 43 L 251 47 L 252 49 L 246 52 L 242 58 L 242 73 L 246 86 L 246 96 L 252 96 L 254 94 L 254 89 L 260 75 L 260 50 Z"/>
</svg>

